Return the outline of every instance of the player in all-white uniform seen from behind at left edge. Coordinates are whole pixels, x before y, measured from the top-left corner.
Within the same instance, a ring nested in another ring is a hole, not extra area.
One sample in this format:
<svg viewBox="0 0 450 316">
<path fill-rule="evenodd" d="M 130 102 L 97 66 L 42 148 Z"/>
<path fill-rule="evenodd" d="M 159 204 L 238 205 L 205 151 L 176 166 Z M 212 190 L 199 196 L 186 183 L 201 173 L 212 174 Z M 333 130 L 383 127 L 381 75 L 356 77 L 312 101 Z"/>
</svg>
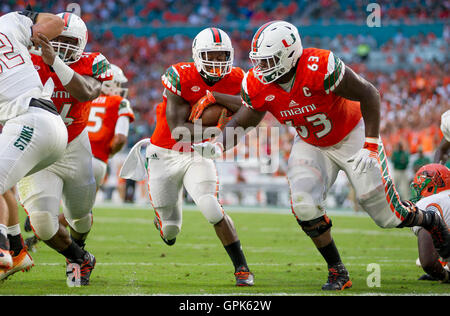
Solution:
<svg viewBox="0 0 450 316">
<path fill-rule="evenodd" d="M 50 99 L 53 82 L 43 86 L 28 51 L 38 36 L 54 38 L 63 27 L 60 17 L 31 8 L 0 17 L 0 273 L 33 265 L 20 234 L 14 186 L 58 160 L 67 145 Z"/>
</svg>

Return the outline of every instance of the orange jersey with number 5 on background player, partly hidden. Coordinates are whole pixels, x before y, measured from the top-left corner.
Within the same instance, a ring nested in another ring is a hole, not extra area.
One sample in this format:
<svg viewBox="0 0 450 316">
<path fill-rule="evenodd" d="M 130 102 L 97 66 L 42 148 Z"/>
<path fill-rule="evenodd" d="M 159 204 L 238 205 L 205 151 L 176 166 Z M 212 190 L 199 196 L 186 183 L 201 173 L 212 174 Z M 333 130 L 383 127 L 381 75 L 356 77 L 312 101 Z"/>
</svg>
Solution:
<svg viewBox="0 0 450 316">
<path fill-rule="evenodd" d="M 130 101 L 118 95 L 101 95 L 90 101 L 89 107 L 91 111 L 86 129 L 89 133 L 92 155 L 107 163 L 117 120 L 121 116 L 126 116 L 131 123 L 134 121 L 134 113 Z"/>
</svg>

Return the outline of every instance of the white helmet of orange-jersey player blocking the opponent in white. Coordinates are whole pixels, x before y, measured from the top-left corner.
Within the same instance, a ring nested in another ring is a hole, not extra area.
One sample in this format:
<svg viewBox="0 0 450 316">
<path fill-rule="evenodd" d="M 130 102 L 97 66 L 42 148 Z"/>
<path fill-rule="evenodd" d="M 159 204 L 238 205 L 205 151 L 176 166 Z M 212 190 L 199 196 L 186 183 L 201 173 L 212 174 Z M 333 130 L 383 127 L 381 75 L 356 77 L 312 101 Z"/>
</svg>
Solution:
<svg viewBox="0 0 450 316">
<path fill-rule="evenodd" d="M 64 30 L 59 36 L 70 37 L 76 39 L 77 42 L 76 44 L 69 44 L 54 39 L 51 41 L 51 44 L 55 52 L 66 64 L 72 64 L 80 59 L 86 47 L 88 39 L 87 27 L 83 20 L 74 13 L 63 12 L 57 14 L 57 16 L 64 20 Z"/>
</svg>

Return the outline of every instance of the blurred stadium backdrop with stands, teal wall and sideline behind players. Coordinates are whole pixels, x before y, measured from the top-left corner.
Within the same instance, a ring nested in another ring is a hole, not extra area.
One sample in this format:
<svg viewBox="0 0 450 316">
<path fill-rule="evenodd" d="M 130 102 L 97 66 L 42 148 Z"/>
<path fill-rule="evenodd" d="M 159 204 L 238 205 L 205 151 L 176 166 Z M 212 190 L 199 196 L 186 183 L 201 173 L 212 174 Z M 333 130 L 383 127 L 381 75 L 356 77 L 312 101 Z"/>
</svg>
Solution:
<svg viewBox="0 0 450 316">
<path fill-rule="evenodd" d="M 161 74 L 173 63 L 192 60 L 192 39 L 208 26 L 230 34 L 235 65 L 248 70 L 255 30 L 268 20 L 287 20 L 299 27 L 304 47 L 332 50 L 371 81 L 382 96 L 381 134 L 396 182 L 407 183 L 415 168 L 432 160 L 442 138 L 440 115 L 450 108 L 450 1 L 376 1 L 381 27 L 366 24 L 371 1 L 349 0 L 2 0 L 0 14 L 26 3 L 39 11 L 62 12 L 71 2 L 80 4 L 88 25 L 86 51 L 100 51 L 124 70 L 136 113 L 128 147 L 111 160 L 98 203 L 149 204 L 145 183 L 126 182 L 117 173 L 129 148 L 154 130 Z M 278 126 L 268 115 L 263 126 L 272 124 Z M 281 165 L 274 174 L 261 174 L 258 159 L 217 164 L 224 205 L 287 208 L 285 166 L 294 132 L 280 126 L 280 134 Z M 245 157 L 249 146 L 255 143 L 241 144 L 236 151 Z M 264 150 L 270 152 L 270 144 Z M 409 160 L 402 161 L 405 157 Z M 399 190 L 409 194 L 404 185 Z M 326 203 L 331 209 L 359 210 L 343 173 Z"/>
</svg>

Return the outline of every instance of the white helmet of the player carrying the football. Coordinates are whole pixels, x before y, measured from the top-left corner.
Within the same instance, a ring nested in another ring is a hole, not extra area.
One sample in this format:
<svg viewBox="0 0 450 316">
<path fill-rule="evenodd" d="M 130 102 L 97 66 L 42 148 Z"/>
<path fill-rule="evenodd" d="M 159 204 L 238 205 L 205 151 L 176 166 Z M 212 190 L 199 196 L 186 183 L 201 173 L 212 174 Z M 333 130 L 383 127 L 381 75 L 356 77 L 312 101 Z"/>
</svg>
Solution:
<svg viewBox="0 0 450 316">
<path fill-rule="evenodd" d="M 213 61 L 210 52 L 226 52 L 226 60 Z M 221 29 L 210 27 L 204 29 L 192 42 L 192 57 L 197 71 L 204 77 L 220 79 L 229 74 L 233 68 L 234 50 L 230 37 Z"/>
</svg>

